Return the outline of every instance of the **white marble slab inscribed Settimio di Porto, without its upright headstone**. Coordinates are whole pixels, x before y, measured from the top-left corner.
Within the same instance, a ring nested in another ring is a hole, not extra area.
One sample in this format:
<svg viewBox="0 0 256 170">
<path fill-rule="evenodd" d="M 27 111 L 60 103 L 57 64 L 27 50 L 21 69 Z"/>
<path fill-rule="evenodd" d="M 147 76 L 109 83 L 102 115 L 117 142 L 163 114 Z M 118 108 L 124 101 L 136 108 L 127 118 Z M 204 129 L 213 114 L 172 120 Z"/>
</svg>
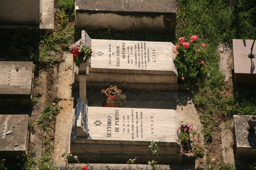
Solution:
<svg viewBox="0 0 256 170">
<path fill-rule="evenodd" d="M 180 121 L 175 110 L 89 106 L 87 121 L 88 137 L 72 137 L 74 154 L 145 155 L 143 148 L 148 150 L 154 140 L 159 154 L 180 155 L 176 131 Z"/>
</svg>

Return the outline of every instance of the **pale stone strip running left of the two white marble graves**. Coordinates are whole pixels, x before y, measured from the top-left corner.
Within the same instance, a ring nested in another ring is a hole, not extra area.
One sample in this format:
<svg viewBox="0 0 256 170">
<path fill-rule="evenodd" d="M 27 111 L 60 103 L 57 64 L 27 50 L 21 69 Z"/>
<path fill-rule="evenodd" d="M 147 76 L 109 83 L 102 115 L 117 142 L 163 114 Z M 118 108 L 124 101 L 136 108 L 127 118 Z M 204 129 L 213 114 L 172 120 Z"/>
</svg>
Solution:
<svg viewBox="0 0 256 170">
<path fill-rule="evenodd" d="M 70 153 L 70 138 L 72 129 L 71 110 L 74 107 L 72 98 L 72 83 L 74 82 L 73 60 L 70 53 L 64 53 L 58 72 L 58 98 L 61 108 L 60 113 L 56 116 L 55 126 L 55 144 L 54 144 L 54 161 L 56 163 L 66 163 L 66 159 L 62 158 L 62 154 Z"/>
</svg>

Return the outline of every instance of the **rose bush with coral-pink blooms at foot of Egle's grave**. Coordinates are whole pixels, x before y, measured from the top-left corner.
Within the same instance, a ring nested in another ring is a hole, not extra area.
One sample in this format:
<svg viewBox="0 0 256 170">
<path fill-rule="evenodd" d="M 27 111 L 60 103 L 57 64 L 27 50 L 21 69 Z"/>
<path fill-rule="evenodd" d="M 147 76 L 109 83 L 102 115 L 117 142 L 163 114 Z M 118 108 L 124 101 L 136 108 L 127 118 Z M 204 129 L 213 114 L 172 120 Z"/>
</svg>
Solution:
<svg viewBox="0 0 256 170">
<path fill-rule="evenodd" d="M 200 43 L 197 35 L 193 35 L 186 42 L 184 37 L 178 39 L 178 44 L 173 50 L 177 54 L 174 62 L 178 69 L 178 80 L 187 82 L 205 77 L 205 44 Z"/>
</svg>

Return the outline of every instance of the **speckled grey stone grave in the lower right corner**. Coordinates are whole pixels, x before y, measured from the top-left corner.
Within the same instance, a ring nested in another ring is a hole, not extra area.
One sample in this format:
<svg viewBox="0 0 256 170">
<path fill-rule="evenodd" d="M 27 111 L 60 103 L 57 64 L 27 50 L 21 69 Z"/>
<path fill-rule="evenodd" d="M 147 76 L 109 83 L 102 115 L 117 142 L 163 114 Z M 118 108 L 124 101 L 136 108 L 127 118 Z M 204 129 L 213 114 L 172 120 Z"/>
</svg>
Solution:
<svg viewBox="0 0 256 170">
<path fill-rule="evenodd" d="M 256 156 L 256 134 L 248 131 L 249 115 L 234 115 L 236 157 Z"/>
</svg>

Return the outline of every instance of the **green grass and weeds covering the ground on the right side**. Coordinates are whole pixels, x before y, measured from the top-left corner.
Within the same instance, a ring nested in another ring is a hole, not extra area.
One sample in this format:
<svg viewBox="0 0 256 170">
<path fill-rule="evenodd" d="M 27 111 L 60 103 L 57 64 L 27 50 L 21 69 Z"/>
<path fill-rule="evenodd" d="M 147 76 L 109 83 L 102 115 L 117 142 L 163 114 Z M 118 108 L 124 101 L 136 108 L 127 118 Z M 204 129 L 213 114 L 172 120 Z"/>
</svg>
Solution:
<svg viewBox="0 0 256 170">
<path fill-rule="evenodd" d="M 206 142 L 211 143 L 212 134 L 225 120 L 234 114 L 255 114 L 255 88 L 250 86 L 232 86 L 225 83 L 219 71 L 217 47 L 226 43 L 232 47 L 232 39 L 254 39 L 256 2 L 238 1 L 235 8 L 229 8 L 229 1 L 179 0 L 177 39 L 198 35 L 207 44 L 204 54 L 205 79 L 188 77 L 193 85 L 194 104 L 200 114 Z M 177 63 L 179 68 L 182 63 Z M 181 76 L 181 75 L 180 75 Z M 253 166 L 251 166 L 253 167 Z M 208 159 L 209 169 L 236 169 L 223 162 L 212 163 Z M 239 167 L 238 167 L 239 168 Z M 251 169 L 248 166 L 244 169 Z"/>
</svg>

